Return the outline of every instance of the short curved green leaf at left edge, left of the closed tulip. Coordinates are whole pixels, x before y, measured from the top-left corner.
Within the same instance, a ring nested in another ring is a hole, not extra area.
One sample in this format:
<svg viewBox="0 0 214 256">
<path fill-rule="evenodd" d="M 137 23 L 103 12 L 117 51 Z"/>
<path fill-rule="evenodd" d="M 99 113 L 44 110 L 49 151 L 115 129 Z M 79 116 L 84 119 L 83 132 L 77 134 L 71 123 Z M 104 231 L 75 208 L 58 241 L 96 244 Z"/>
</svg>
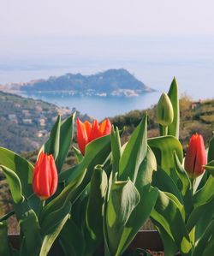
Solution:
<svg viewBox="0 0 214 256">
<path fill-rule="evenodd" d="M 19 177 L 15 174 L 13 170 L 10 170 L 3 165 L 0 166 L 2 167 L 3 174 L 6 176 L 9 183 L 9 189 L 15 204 L 21 203 L 24 200 L 24 197 L 22 195 L 21 181 Z"/>
</svg>

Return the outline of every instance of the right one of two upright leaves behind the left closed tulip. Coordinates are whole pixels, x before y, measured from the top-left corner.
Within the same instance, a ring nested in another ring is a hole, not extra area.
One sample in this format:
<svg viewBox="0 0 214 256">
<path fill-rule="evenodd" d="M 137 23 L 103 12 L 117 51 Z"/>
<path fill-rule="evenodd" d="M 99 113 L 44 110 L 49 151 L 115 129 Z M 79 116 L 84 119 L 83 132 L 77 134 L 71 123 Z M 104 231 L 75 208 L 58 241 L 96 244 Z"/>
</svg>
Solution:
<svg viewBox="0 0 214 256">
<path fill-rule="evenodd" d="M 74 117 L 75 114 L 73 116 L 69 116 L 65 121 L 62 122 L 60 127 L 59 151 L 56 158 L 56 167 L 58 172 L 62 170 L 62 165 L 64 164 L 71 145 L 74 130 Z"/>
</svg>

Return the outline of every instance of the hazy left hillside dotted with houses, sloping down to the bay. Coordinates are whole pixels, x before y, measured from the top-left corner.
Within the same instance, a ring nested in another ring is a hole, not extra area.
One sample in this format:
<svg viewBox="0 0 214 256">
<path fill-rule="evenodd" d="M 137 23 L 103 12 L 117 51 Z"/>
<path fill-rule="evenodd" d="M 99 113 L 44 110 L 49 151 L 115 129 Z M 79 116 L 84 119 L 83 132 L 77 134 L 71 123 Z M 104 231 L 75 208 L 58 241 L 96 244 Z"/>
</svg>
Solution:
<svg viewBox="0 0 214 256">
<path fill-rule="evenodd" d="M 47 139 L 59 114 L 65 118 L 71 114 L 71 110 L 41 100 L 0 92 L 0 146 L 15 152 L 39 148 Z"/>
</svg>

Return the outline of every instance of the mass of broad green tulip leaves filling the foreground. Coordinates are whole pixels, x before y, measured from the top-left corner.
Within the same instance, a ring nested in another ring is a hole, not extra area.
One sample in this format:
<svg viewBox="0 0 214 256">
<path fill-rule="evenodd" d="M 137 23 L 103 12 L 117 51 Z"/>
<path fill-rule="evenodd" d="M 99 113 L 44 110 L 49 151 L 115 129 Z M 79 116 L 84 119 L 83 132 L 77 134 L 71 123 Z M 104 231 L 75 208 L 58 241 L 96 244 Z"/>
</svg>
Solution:
<svg viewBox="0 0 214 256">
<path fill-rule="evenodd" d="M 175 115 L 161 136 L 147 138 L 145 114 L 126 143 L 122 145 L 119 129 L 113 127 L 110 135 L 89 143 L 84 156 L 72 145 L 74 115 L 63 122 L 59 116 L 41 148 L 54 155 L 58 170 L 57 191 L 45 201 L 33 193 L 33 164 L 0 148 L 0 166 L 13 199 L 13 211 L 0 217 L 0 254 L 46 256 L 56 242 L 64 255 L 92 256 L 104 244 L 105 256 L 119 256 L 152 217 L 166 256 L 178 251 L 185 256 L 211 255 L 214 140 L 210 140 L 207 149 L 209 163 L 205 165 L 205 175 L 197 180 L 189 178 L 182 165 L 183 150 L 178 140 L 175 79 L 169 100 Z M 201 109 L 205 112 L 209 107 L 206 102 Z M 187 98 L 182 108 L 187 108 Z M 197 122 L 199 108 L 194 110 Z M 76 162 L 65 168 L 71 147 Z M 6 220 L 13 214 L 21 228 L 18 251 L 9 246 L 7 237 Z"/>
</svg>

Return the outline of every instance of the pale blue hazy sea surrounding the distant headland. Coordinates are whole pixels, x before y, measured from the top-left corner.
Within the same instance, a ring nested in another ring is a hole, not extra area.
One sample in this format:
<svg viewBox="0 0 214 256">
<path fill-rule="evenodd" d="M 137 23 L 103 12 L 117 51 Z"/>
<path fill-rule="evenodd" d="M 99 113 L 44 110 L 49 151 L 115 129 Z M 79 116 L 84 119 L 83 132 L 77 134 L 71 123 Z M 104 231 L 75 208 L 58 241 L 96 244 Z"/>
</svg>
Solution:
<svg viewBox="0 0 214 256">
<path fill-rule="evenodd" d="M 140 97 L 77 97 L 65 92 L 26 93 L 102 120 L 144 110 L 168 92 L 173 77 L 180 96 L 214 98 L 214 35 L 0 36 L 0 84 L 67 73 L 96 74 L 126 68 L 156 92 Z"/>
</svg>

